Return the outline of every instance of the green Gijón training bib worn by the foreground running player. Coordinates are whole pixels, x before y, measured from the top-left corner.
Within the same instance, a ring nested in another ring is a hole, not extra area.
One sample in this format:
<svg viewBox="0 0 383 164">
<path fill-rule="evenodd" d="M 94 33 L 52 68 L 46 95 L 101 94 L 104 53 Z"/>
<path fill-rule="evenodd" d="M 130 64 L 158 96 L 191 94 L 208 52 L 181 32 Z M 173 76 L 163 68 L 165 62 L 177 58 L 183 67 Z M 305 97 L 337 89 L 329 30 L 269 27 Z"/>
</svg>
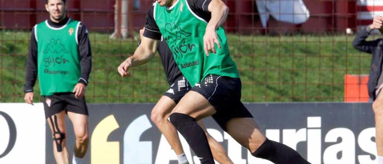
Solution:
<svg viewBox="0 0 383 164">
<path fill-rule="evenodd" d="M 216 46 L 217 53 L 206 56 L 203 36 L 207 22 L 193 13 L 187 0 L 178 0 L 170 8 L 160 7 L 155 2 L 154 19 L 173 52 L 175 62 L 190 85 L 200 83 L 207 75 L 239 78 L 221 26 L 216 30 L 221 49 Z"/>
</svg>

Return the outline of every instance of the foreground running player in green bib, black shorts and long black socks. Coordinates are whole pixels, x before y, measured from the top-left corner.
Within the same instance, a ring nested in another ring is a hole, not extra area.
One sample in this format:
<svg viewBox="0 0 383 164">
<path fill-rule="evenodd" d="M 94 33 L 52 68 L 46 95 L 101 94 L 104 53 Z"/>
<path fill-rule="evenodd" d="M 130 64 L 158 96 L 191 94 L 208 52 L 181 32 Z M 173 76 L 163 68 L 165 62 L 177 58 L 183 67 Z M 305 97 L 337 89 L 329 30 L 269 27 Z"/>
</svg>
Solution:
<svg viewBox="0 0 383 164">
<path fill-rule="evenodd" d="M 141 44 L 120 64 L 119 74 L 129 76 L 130 67 L 149 61 L 162 35 L 193 86 L 173 109 L 170 122 L 201 163 L 213 164 L 214 160 L 196 121 L 212 116 L 253 156 L 277 164 L 308 164 L 295 150 L 267 139 L 241 103 L 241 79 L 221 26 L 228 10 L 221 0 L 156 0 L 149 9 Z"/>
</svg>

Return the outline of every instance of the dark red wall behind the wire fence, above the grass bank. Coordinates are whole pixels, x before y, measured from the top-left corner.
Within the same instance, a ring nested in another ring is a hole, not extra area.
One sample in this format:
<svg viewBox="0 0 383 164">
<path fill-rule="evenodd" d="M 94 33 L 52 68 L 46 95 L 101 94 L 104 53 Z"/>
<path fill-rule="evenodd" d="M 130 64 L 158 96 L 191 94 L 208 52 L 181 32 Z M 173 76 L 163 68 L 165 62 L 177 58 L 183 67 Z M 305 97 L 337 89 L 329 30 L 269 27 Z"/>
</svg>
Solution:
<svg viewBox="0 0 383 164">
<path fill-rule="evenodd" d="M 224 0 L 230 7 L 226 30 L 240 33 L 265 33 L 256 10 L 254 0 Z M 47 18 L 45 0 L 0 0 L 1 26 L 4 28 L 30 29 Z M 91 30 L 113 31 L 115 0 L 67 0 L 69 16 L 81 20 Z M 306 23 L 293 25 L 271 18 L 268 33 L 301 32 L 344 32 L 355 29 L 356 2 L 346 0 L 304 0 L 310 11 Z M 133 26 L 145 24 L 147 9 L 151 0 L 141 0 L 141 8 L 133 11 Z"/>
</svg>

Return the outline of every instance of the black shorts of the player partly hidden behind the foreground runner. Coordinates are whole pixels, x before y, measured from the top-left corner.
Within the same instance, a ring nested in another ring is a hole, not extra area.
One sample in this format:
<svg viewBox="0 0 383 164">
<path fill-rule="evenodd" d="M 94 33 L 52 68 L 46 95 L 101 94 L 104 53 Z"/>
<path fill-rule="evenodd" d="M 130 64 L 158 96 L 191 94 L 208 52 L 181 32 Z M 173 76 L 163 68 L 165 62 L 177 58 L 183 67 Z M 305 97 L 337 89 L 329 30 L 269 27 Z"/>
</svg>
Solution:
<svg viewBox="0 0 383 164">
<path fill-rule="evenodd" d="M 171 98 L 175 103 L 180 102 L 181 98 L 185 96 L 191 89 L 188 80 L 184 76 L 180 76 L 174 80 L 169 89 L 165 92 L 164 96 Z"/>
</svg>

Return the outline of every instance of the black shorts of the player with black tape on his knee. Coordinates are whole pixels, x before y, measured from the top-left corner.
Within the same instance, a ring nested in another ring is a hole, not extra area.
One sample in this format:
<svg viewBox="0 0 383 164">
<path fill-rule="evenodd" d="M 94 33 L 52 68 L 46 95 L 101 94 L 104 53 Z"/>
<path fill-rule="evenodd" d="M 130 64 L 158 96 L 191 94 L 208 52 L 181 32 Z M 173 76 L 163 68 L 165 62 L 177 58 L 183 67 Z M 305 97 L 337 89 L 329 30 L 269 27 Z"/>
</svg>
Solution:
<svg viewBox="0 0 383 164">
<path fill-rule="evenodd" d="M 88 107 L 85 97 L 75 98 L 74 93 L 55 93 L 51 96 L 43 96 L 45 118 L 62 112 L 73 112 L 88 115 Z"/>
</svg>

